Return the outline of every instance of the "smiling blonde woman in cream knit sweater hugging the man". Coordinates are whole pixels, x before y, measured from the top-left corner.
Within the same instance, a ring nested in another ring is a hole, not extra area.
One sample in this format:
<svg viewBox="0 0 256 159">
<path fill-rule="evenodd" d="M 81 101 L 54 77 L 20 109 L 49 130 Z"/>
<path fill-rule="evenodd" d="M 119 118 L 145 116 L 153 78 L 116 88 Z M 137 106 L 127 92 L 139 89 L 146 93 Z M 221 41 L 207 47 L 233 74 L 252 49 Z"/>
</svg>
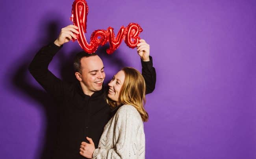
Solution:
<svg viewBox="0 0 256 159">
<path fill-rule="evenodd" d="M 139 71 L 124 67 L 109 82 L 108 104 L 115 115 L 104 127 L 98 148 L 92 139 L 83 142 L 80 154 L 87 158 L 145 158 L 143 121 L 148 120 L 145 103 L 145 81 Z"/>
</svg>

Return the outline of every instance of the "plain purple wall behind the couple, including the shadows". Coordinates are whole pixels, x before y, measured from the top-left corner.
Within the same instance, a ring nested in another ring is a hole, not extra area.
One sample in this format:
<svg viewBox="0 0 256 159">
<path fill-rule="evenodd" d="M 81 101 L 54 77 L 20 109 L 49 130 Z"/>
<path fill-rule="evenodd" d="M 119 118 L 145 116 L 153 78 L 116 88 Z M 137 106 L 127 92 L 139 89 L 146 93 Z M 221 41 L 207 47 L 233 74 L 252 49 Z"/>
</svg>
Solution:
<svg viewBox="0 0 256 159">
<path fill-rule="evenodd" d="M 0 2 L 2 159 L 51 153 L 53 104 L 27 68 L 35 53 L 71 23 L 72 2 Z M 147 95 L 146 158 L 256 159 L 255 0 L 87 3 L 87 39 L 96 29 L 111 26 L 117 34 L 135 22 L 150 44 L 157 83 Z M 98 52 L 106 80 L 125 65 L 141 70 L 136 51 L 124 42 L 111 56 L 105 50 Z M 77 42 L 65 44 L 49 69 L 74 79 L 71 61 L 77 51 Z"/>
</svg>

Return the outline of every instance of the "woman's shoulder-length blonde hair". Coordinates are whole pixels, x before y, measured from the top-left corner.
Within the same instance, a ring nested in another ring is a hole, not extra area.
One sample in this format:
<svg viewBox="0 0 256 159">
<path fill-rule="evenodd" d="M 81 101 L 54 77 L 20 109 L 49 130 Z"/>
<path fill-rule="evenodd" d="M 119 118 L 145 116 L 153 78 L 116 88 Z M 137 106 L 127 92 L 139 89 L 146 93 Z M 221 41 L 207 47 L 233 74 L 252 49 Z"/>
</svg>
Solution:
<svg viewBox="0 0 256 159">
<path fill-rule="evenodd" d="M 120 90 L 119 102 L 123 105 L 127 104 L 135 107 L 142 120 L 146 122 L 148 121 L 148 113 L 144 108 L 146 102 L 145 80 L 141 73 L 132 67 L 124 67 L 122 71 L 124 71 L 125 78 Z M 109 98 L 107 98 L 107 103 L 113 108 L 117 106 L 116 102 Z"/>
</svg>

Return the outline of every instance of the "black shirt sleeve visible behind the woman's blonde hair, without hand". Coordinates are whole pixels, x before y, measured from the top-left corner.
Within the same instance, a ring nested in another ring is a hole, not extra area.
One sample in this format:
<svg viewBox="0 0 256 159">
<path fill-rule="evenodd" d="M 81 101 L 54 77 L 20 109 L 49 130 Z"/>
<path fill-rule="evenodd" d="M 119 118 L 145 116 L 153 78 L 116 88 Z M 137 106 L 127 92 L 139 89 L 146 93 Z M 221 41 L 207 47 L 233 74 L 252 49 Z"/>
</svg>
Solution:
<svg viewBox="0 0 256 159">
<path fill-rule="evenodd" d="M 153 67 L 152 57 L 149 56 L 150 61 L 142 61 L 142 76 L 146 83 L 146 94 L 152 93 L 156 86 L 156 69 Z"/>
</svg>

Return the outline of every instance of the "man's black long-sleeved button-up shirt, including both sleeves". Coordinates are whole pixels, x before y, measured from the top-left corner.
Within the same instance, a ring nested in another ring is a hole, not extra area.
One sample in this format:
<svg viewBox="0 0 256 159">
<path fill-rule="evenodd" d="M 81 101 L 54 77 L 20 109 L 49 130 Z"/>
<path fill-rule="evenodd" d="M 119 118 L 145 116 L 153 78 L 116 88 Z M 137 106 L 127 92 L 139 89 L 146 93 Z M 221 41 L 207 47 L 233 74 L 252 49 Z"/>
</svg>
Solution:
<svg viewBox="0 0 256 159">
<path fill-rule="evenodd" d="M 96 91 L 92 96 L 83 93 L 80 83 L 67 83 L 57 78 L 48 70 L 54 55 L 61 49 L 54 43 L 46 45 L 37 52 L 29 70 L 37 82 L 58 101 L 60 128 L 54 159 L 84 159 L 79 149 L 85 137 L 91 137 L 98 147 L 104 126 L 111 118 L 111 109 L 106 103 L 106 87 Z M 142 75 L 146 82 L 146 93 L 155 88 L 156 71 L 150 61 L 142 64 Z"/>
</svg>

